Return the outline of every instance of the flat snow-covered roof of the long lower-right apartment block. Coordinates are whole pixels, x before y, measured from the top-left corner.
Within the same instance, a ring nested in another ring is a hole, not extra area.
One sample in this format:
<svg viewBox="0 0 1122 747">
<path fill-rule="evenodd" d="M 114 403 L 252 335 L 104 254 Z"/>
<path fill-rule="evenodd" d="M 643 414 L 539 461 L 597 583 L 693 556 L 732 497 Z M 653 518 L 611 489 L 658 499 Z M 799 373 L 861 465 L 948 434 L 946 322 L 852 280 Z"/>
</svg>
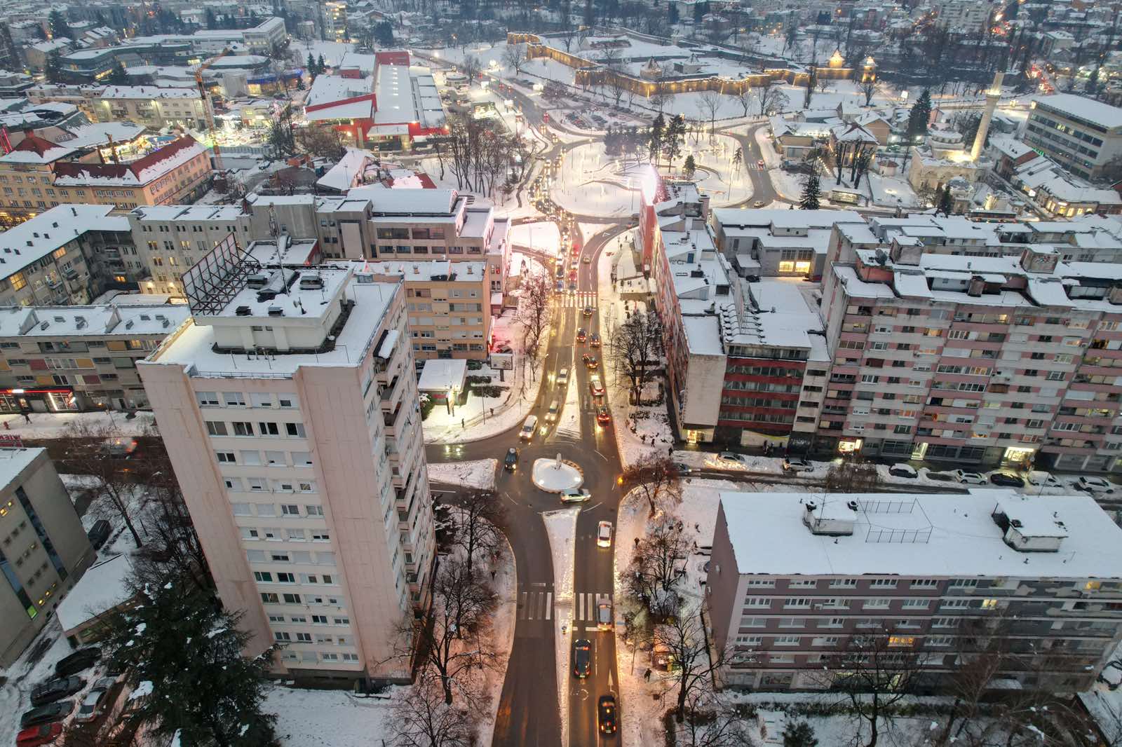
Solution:
<svg viewBox="0 0 1122 747">
<path fill-rule="evenodd" d="M 816 535 L 803 525 L 808 501 L 850 500 L 858 502 L 852 535 Z M 721 492 L 720 501 L 742 574 L 1122 578 L 1122 528 L 1089 496 L 981 488 L 968 495 Z M 999 506 L 1042 527 L 1061 522 L 1060 552 L 1005 544 L 991 517 Z"/>
</svg>

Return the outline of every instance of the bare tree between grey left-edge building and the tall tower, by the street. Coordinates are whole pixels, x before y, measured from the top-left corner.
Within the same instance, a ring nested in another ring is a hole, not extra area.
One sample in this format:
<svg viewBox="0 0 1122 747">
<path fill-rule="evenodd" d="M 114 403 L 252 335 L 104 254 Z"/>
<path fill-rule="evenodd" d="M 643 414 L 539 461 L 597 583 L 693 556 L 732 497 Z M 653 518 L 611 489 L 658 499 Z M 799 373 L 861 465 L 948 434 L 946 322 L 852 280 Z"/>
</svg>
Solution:
<svg viewBox="0 0 1122 747">
<path fill-rule="evenodd" d="M 137 547 L 144 546 L 135 524 L 138 507 L 132 494 L 137 485 L 126 470 L 126 462 L 111 457 L 114 450 L 131 442 L 132 436 L 111 424 L 72 421 L 64 437 L 71 469 L 92 479 L 93 509 L 123 520 Z"/>
</svg>

